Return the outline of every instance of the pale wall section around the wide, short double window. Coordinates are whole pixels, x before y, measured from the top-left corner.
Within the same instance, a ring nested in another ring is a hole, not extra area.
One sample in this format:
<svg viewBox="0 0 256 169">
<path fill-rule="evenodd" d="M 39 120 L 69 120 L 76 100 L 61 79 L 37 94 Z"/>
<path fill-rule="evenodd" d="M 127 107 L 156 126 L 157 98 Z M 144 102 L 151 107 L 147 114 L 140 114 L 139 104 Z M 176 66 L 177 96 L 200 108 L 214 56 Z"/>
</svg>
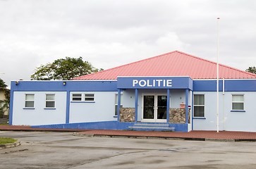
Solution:
<svg viewBox="0 0 256 169">
<path fill-rule="evenodd" d="M 95 103 L 72 102 L 72 94 L 95 94 Z M 117 92 L 71 92 L 70 123 L 117 120 L 115 96 Z"/>
</svg>

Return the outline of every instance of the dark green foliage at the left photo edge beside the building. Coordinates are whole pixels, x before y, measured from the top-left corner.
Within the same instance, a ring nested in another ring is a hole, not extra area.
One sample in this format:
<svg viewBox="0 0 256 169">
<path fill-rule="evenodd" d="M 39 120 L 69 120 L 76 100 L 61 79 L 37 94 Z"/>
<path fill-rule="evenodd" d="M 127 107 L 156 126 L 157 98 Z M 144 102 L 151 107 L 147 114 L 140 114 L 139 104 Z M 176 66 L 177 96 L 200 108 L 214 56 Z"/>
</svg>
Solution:
<svg viewBox="0 0 256 169">
<path fill-rule="evenodd" d="M 9 109 L 10 107 L 10 90 L 6 89 L 7 85 L 0 78 L 0 92 L 4 91 L 5 100 L 0 100 L 0 118 L 4 117 L 4 112 Z"/>
</svg>

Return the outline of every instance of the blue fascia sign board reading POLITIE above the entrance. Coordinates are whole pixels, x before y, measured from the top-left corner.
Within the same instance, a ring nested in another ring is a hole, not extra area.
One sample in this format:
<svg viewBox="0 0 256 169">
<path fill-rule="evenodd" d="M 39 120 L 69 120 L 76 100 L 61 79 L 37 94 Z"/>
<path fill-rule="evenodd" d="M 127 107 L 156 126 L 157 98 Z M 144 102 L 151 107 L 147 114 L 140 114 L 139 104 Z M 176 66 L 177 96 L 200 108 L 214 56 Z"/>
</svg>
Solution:
<svg viewBox="0 0 256 169">
<path fill-rule="evenodd" d="M 117 77 L 118 89 L 192 89 L 190 77 Z"/>
</svg>

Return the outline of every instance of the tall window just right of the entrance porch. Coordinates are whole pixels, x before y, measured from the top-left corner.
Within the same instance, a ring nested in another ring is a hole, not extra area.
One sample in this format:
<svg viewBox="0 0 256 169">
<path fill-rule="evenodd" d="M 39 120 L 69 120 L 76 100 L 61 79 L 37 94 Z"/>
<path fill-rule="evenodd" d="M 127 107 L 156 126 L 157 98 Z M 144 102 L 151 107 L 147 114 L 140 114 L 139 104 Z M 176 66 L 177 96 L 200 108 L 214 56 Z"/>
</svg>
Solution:
<svg viewBox="0 0 256 169">
<path fill-rule="evenodd" d="M 205 117 L 205 95 L 194 94 L 194 117 Z"/>
</svg>

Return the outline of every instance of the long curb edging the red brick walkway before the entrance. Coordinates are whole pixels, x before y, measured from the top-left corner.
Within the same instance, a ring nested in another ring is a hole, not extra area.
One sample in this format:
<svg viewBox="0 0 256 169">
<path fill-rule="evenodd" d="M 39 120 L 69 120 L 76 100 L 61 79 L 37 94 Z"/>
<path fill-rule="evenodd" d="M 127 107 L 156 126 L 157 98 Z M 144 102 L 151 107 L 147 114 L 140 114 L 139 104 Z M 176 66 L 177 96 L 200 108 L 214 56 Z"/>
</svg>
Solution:
<svg viewBox="0 0 256 169">
<path fill-rule="evenodd" d="M 190 137 L 105 135 L 105 134 L 85 134 L 85 133 L 77 133 L 77 132 L 74 132 L 73 136 L 78 136 L 78 137 L 111 137 L 111 138 L 129 138 L 129 139 L 170 139 L 170 140 L 205 141 L 205 142 L 244 142 L 245 141 L 245 140 L 240 140 L 240 139 L 208 139 L 208 138 L 190 138 Z"/>
</svg>

